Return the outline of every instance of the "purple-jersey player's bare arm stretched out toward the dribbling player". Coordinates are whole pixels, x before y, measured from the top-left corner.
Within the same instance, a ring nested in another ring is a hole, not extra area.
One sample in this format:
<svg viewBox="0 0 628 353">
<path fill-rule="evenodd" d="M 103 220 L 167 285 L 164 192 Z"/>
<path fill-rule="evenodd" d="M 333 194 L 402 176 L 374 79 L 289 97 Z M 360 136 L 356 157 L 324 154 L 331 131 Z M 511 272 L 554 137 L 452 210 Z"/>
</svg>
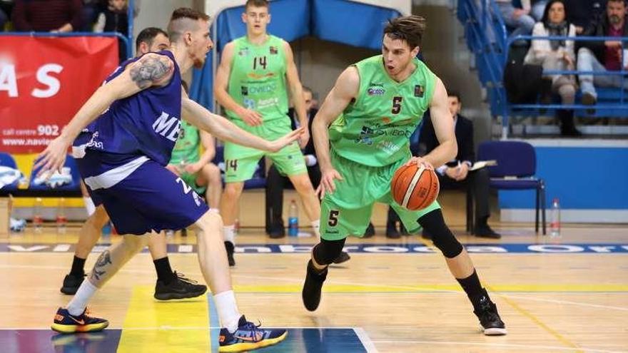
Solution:
<svg viewBox="0 0 628 353">
<path fill-rule="evenodd" d="M 203 106 L 189 98 L 183 98 L 181 102 L 181 108 L 185 111 L 183 118 L 189 121 L 193 126 L 207 131 L 221 140 L 227 140 L 237 143 L 238 145 L 256 148 L 258 150 L 277 152 L 286 145 L 298 140 L 299 136 L 303 134 L 303 128 L 298 128 L 277 140 L 264 140 L 263 138 L 259 138 L 252 133 L 242 130 L 226 118 L 209 112 L 206 108 L 203 108 Z"/>
</svg>

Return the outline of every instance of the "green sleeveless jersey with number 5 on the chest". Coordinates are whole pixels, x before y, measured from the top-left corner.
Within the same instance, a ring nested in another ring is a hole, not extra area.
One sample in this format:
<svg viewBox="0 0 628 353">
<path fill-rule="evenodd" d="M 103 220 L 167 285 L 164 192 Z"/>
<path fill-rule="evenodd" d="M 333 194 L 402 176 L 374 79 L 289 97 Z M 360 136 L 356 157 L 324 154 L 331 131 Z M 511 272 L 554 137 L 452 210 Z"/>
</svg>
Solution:
<svg viewBox="0 0 628 353">
<path fill-rule="evenodd" d="M 355 63 L 360 88 L 355 101 L 329 128 L 331 148 L 356 163 L 381 167 L 410 155 L 414 133 L 432 100 L 436 76 L 414 59 L 403 82 L 388 76 L 381 55 Z"/>
</svg>

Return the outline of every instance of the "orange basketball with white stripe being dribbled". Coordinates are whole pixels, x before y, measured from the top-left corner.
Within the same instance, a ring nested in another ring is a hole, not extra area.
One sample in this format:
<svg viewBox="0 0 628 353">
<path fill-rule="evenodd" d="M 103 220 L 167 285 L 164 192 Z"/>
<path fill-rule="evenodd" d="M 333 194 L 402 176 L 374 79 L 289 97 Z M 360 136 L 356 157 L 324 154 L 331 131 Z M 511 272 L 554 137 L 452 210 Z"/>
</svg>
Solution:
<svg viewBox="0 0 628 353">
<path fill-rule="evenodd" d="M 438 176 L 434 170 L 412 163 L 402 165 L 393 175 L 390 192 L 395 202 L 408 210 L 422 210 L 431 205 L 440 189 Z"/>
</svg>

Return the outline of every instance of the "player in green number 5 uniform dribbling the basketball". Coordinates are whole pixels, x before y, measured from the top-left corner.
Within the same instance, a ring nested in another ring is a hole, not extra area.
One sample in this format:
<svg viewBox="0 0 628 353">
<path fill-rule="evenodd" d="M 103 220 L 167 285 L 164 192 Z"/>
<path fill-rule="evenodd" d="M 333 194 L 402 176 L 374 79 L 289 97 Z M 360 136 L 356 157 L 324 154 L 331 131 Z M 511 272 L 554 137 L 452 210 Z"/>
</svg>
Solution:
<svg viewBox="0 0 628 353">
<path fill-rule="evenodd" d="M 395 209 L 410 232 L 420 227 L 433 235 L 452 275 L 472 302 L 487 335 L 506 334 L 497 307 L 480 285 L 464 247 L 445 225 L 435 201 L 410 211 L 395 203 L 390 181 L 402 165 L 417 163 L 433 169 L 457 152 L 447 91 L 425 63 L 417 60 L 425 20 L 405 16 L 385 26 L 382 53 L 355 63 L 338 77 L 312 126 L 322 179 L 321 241 L 313 248 L 303 285 L 303 304 L 313 311 L 328 265 L 338 256 L 348 235 L 360 237 L 373 203 Z M 410 135 L 430 108 L 440 145 L 423 158 L 410 155 Z"/>
</svg>

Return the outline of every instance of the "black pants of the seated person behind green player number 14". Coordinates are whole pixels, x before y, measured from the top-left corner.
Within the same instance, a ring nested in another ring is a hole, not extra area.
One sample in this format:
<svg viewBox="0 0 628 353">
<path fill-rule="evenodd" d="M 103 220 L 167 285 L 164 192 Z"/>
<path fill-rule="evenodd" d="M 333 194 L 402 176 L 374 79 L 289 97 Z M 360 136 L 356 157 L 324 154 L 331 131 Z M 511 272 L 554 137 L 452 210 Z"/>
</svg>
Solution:
<svg viewBox="0 0 628 353">
<path fill-rule="evenodd" d="M 320 167 L 308 167 L 308 175 L 314 189 L 320 183 Z M 283 189 L 294 188 L 290 179 L 281 175 L 275 165 L 270 165 L 266 175 L 266 232 L 283 227 Z"/>
</svg>

